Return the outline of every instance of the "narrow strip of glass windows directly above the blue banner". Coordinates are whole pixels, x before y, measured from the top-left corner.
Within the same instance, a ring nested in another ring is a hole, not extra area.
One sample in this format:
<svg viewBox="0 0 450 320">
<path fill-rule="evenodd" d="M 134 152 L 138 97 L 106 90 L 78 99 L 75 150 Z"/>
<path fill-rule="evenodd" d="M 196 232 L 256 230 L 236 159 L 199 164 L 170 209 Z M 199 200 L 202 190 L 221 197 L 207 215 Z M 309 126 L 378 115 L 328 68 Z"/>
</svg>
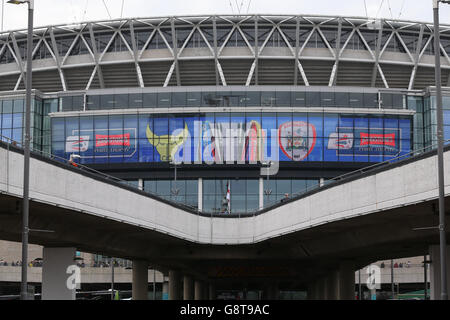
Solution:
<svg viewBox="0 0 450 320">
<path fill-rule="evenodd" d="M 86 96 L 86 110 L 180 107 L 339 107 L 406 109 L 404 94 L 320 91 L 198 91 Z M 83 97 L 62 97 L 62 111 L 83 110 Z"/>
</svg>

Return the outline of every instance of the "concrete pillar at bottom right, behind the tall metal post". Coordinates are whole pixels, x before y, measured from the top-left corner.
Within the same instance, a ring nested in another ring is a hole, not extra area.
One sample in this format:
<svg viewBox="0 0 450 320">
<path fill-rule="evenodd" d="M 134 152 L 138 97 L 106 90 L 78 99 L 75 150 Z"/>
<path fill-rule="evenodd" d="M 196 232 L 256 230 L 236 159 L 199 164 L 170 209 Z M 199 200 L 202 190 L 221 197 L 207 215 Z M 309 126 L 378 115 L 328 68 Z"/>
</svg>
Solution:
<svg viewBox="0 0 450 320">
<path fill-rule="evenodd" d="M 447 290 L 450 290 L 450 246 L 447 246 Z M 441 299 L 441 253 L 438 245 L 430 246 L 430 299 Z"/>
</svg>

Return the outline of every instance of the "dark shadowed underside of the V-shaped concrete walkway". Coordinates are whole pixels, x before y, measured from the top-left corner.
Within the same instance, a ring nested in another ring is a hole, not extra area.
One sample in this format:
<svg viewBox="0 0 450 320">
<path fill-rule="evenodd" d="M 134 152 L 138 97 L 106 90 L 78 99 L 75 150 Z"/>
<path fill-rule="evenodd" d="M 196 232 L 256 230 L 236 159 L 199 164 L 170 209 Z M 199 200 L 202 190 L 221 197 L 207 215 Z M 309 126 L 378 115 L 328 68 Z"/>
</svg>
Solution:
<svg viewBox="0 0 450 320">
<path fill-rule="evenodd" d="M 447 208 L 450 201 L 446 199 Z M 0 196 L 3 240 L 21 241 L 21 199 Z M 133 260 L 148 260 L 161 271 L 180 269 L 209 279 L 265 281 L 276 278 L 298 287 L 327 274 L 342 261 L 356 268 L 392 257 L 428 253 L 437 244 L 437 203 L 416 204 L 342 220 L 249 245 L 205 245 L 180 240 L 145 228 L 31 202 L 30 243 L 76 247 L 79 251 Z M 447 220 L 450 223 L 450 220 Z"/>
</svg>

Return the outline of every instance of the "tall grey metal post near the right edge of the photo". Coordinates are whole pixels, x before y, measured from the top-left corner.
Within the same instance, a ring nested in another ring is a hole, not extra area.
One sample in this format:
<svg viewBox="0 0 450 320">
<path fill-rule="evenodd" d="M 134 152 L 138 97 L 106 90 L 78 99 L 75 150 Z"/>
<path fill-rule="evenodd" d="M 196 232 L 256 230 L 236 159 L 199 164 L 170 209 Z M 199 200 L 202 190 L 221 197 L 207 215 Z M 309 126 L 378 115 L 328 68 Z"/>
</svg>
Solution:
<svg viewBox="0 0 450 320">
<path fill-rule="evenodd" d="M 438 138 L 438 176 L 439 176 L 439 245 L 441 257 L 441 300 L 448 300 L 447 293 L 447 242 L 445 237 L 444 203 L 444 131 L 441 89 L 441 55 L 439 35 L 439 0 L 433 0 L 434 13 L 434 60 L 436 77 L 436 113 Z"/>
</svg>

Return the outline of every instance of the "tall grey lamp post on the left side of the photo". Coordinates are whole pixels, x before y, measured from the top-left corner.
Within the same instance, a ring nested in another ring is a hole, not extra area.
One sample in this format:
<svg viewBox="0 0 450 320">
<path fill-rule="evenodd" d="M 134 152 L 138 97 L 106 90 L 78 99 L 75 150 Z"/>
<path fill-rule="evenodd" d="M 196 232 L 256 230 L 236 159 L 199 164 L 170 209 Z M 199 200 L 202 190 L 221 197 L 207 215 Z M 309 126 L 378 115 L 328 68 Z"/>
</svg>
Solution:
<svg viewBox="0 0 450 320">
<path fill-rule="evenodd" d="M 24 137 L 24 168 L 23 168 L 23 208 L 22 208 L 22 281 L 20 299 L 28 298 L 27 261 L 28 261 L 28 217 L 29 217 L 29 189 L 30 189 L 30 118 L 31 118 L 31 77 L 33 54 L 33 11 L 34 0 L 9 0 L 11 4 L 28 4 L 28 35 L 27 35 L 27 72 L 25 98 L 25 137 Z"/>
</svg>

